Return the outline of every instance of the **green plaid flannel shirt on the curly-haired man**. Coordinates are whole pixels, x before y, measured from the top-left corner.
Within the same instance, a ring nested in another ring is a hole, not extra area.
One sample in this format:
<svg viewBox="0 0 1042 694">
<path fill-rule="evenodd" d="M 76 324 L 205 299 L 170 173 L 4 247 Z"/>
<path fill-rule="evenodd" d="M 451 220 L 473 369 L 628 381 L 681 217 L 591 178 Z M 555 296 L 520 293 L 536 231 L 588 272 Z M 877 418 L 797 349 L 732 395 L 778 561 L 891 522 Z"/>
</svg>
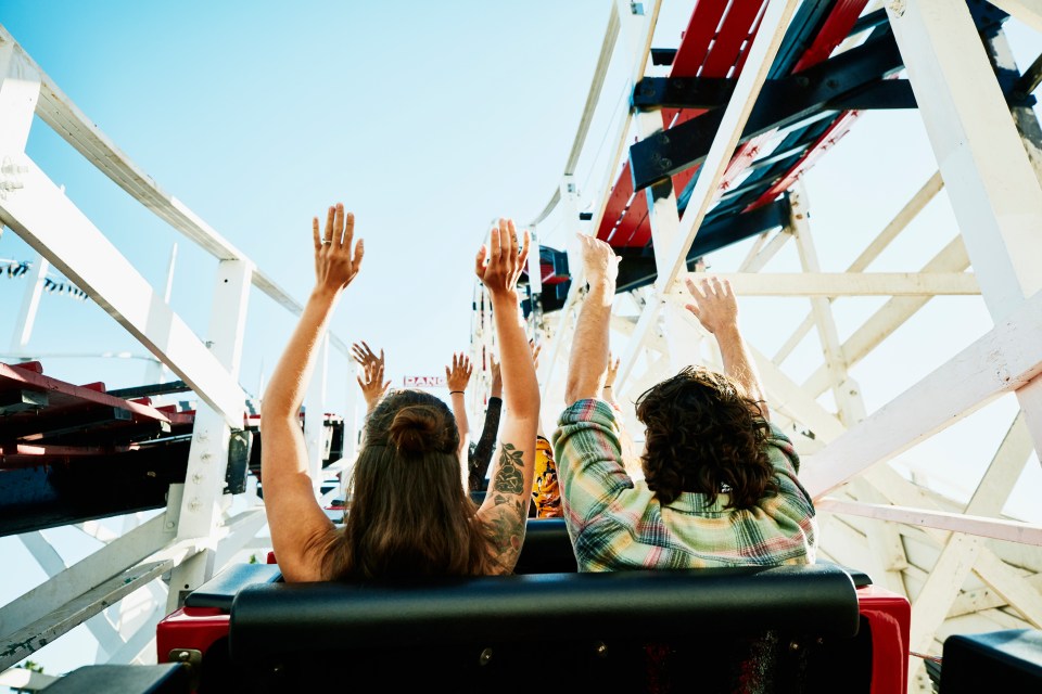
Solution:
<svg viewBox="0 0 1042 694">
<path fill-rule="evenodd" d="M 774 424 L 766 441 L 780 491 L 751 509 L 724 509 L 726 494 L 682 492 L 662 505 L 623 470 L 620 427 L 603 400 L 561 413 L 554 450 L 564 520 L 582 571 L 813 564 L 814 505 L 797 479 L 800 459 Z"/>
</svg>

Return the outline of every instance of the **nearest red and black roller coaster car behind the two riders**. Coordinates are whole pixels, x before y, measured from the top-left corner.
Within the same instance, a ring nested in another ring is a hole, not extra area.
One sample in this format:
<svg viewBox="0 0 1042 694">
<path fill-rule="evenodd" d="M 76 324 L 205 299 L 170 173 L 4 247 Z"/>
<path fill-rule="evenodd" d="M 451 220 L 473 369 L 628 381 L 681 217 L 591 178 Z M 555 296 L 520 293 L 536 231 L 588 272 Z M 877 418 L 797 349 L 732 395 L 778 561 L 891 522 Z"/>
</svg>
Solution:
<svg viewBox="0 0 1042 694">
<path fill-rule="evenodd" d="M 906 689 L 910 617 L 904 597 L 829 564 L 579 574 L 555 518 L 529 520 L 514 576 L 288 584 L 275 564 L 232 566 L 160 622 L 156 645 L 203 693 L 878 694 Z"/>
</svg>

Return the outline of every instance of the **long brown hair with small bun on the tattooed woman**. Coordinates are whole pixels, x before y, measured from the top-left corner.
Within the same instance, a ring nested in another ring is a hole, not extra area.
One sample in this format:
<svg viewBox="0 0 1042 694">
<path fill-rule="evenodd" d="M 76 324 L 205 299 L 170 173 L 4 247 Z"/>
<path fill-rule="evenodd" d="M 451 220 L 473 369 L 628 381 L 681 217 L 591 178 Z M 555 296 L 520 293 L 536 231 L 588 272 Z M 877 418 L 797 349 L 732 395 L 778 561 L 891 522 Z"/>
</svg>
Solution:
<svg viewBox="0 0 1042 694">
<path fill-rule="evenodd" d="M 488 574 L 488 542 L 463 492 L 459 430 L 440 399 L 387 395 L 369 414 L 355 463 L 354 498 L 327 551 L 336 579 Z"/>
</svg>

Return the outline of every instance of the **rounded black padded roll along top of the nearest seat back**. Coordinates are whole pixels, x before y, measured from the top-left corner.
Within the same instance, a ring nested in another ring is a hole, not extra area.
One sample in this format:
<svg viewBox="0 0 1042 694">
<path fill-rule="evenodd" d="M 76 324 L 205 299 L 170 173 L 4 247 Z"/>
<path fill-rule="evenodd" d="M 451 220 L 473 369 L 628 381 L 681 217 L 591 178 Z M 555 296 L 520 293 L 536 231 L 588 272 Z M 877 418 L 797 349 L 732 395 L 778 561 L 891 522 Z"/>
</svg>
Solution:
<svg viewBox="0 0 1042 694">
<path fill-rule="evenodd" d="M 231 609 L 234 659 L 476 640 L 663 639 L 783 629 L 851 637 L 857 595 L 839 567 L 542 574 L 395 584 L 251 586 Z"/>
</svg>

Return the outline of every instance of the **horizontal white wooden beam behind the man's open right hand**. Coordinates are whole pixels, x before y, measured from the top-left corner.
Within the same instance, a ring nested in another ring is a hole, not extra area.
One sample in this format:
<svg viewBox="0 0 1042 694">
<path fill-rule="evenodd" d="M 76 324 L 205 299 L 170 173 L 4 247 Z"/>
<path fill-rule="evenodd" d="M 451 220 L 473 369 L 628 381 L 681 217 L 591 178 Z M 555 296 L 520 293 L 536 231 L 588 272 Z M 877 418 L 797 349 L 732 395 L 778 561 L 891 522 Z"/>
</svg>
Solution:
<svg viewBox="0 0 1042 694">
<path fill-rule="evenodd" d="M 980 287 L 973 274 L 965 272 L 785 272 L 728 273 L 714 272 L 728 280 L 740 296 L 973 296 Z M 690 273 L 683 277 L 695 278 Z M 669 295 L 684 300 L 687 291 L 674 288 Z"/>
</svg>

